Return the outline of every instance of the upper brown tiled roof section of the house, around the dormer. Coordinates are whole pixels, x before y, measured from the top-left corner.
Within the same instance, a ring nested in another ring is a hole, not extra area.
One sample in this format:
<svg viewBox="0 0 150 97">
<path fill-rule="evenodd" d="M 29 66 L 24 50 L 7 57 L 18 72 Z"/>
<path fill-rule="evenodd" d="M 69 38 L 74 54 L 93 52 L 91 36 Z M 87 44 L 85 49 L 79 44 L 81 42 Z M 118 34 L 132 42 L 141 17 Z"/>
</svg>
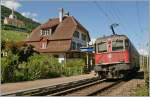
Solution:
<svg viewBox="0 0 150 97">
<path fill-rule="evenodd" d="M 80 28 L 88 34 L 89 32 L 73 17 L 67 16 L 59 22 L 59 18 L 50 19 L 48 22 L 34 29 L 27 41 L 39 41 L 41 39 L 40 30 L 56 26 L 54 33 L 48 37 L 48 40 L 71 39 L 76 28 Z M 90 37 L 89 37 L 90 39 Z"/>
</svg>

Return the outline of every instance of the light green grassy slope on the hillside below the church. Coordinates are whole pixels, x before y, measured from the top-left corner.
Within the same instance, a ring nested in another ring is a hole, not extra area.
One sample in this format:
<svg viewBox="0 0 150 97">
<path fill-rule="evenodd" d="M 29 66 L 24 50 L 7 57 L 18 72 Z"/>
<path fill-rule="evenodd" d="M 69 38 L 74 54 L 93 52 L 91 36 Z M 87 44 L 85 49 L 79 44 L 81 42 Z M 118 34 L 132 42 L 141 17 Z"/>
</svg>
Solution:
<svg viewBox="0 0 150 97">
<path fill-rule="evenodd" d="M 23 41 L 27 38 L 28 33 L 11 30 L 1 30 L 1 39 L 5 41 Z"/>
</svg>

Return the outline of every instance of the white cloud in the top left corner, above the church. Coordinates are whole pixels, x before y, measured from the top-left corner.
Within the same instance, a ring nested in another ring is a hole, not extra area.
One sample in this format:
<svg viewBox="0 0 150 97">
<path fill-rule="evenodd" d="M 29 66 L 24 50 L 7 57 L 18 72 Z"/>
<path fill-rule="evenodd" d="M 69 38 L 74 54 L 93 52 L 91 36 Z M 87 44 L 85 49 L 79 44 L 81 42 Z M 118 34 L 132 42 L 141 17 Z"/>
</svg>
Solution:
<svg viewBox="0 0 150 97">
<path fill-rule="evenodd" d="M 14 10 L 17 10 L 19 7 L 22 6 L 21 3 L 17 2 L 17 1 L 13 1 L 13 0 L 9 0 L 9 1 L 3 0 L 3 1 L 1 1 L 1 4 L 10 9 L 14 8 Z"/>
</svg>

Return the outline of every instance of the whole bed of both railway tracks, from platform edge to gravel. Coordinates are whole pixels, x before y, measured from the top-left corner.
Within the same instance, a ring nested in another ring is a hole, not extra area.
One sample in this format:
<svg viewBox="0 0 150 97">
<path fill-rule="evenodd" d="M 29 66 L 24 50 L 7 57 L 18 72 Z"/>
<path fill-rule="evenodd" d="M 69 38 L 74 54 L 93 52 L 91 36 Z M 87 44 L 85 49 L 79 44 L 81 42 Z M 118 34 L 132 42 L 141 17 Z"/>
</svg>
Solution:
<svg viewBox="0 0 150 97">
<path fill-rule="evenodd" d="M 133 76 L 132 76 L 133 77 Z M 132 78 L 131 78 L 132 79 Z M 129 80 L 131 80 L 129 79 Z M 11 93 L 1 94 L 2 96 L 91 96 L 91 95 L 107 95 L 109 91 L 127 81 L 116 80 L 108 81 L 106 79 L 99 79 L 98 77 L 63 83 L 53 86 L 40 87 L 35 89 L 15 91 Z"/>
</svg>

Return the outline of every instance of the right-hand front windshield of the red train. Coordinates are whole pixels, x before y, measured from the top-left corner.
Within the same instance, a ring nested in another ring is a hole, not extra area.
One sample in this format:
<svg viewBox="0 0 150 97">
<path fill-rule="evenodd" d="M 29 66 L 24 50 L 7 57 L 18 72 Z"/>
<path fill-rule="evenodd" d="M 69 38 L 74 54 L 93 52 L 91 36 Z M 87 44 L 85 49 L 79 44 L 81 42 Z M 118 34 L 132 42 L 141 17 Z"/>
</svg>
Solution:
<svg viewBox="0 0 150 97">
<path fill-rule="evenodd" d="M 120 51 L 123 48 L 123 40 L 112 41 L 112 51 Z"/>
</svg>

